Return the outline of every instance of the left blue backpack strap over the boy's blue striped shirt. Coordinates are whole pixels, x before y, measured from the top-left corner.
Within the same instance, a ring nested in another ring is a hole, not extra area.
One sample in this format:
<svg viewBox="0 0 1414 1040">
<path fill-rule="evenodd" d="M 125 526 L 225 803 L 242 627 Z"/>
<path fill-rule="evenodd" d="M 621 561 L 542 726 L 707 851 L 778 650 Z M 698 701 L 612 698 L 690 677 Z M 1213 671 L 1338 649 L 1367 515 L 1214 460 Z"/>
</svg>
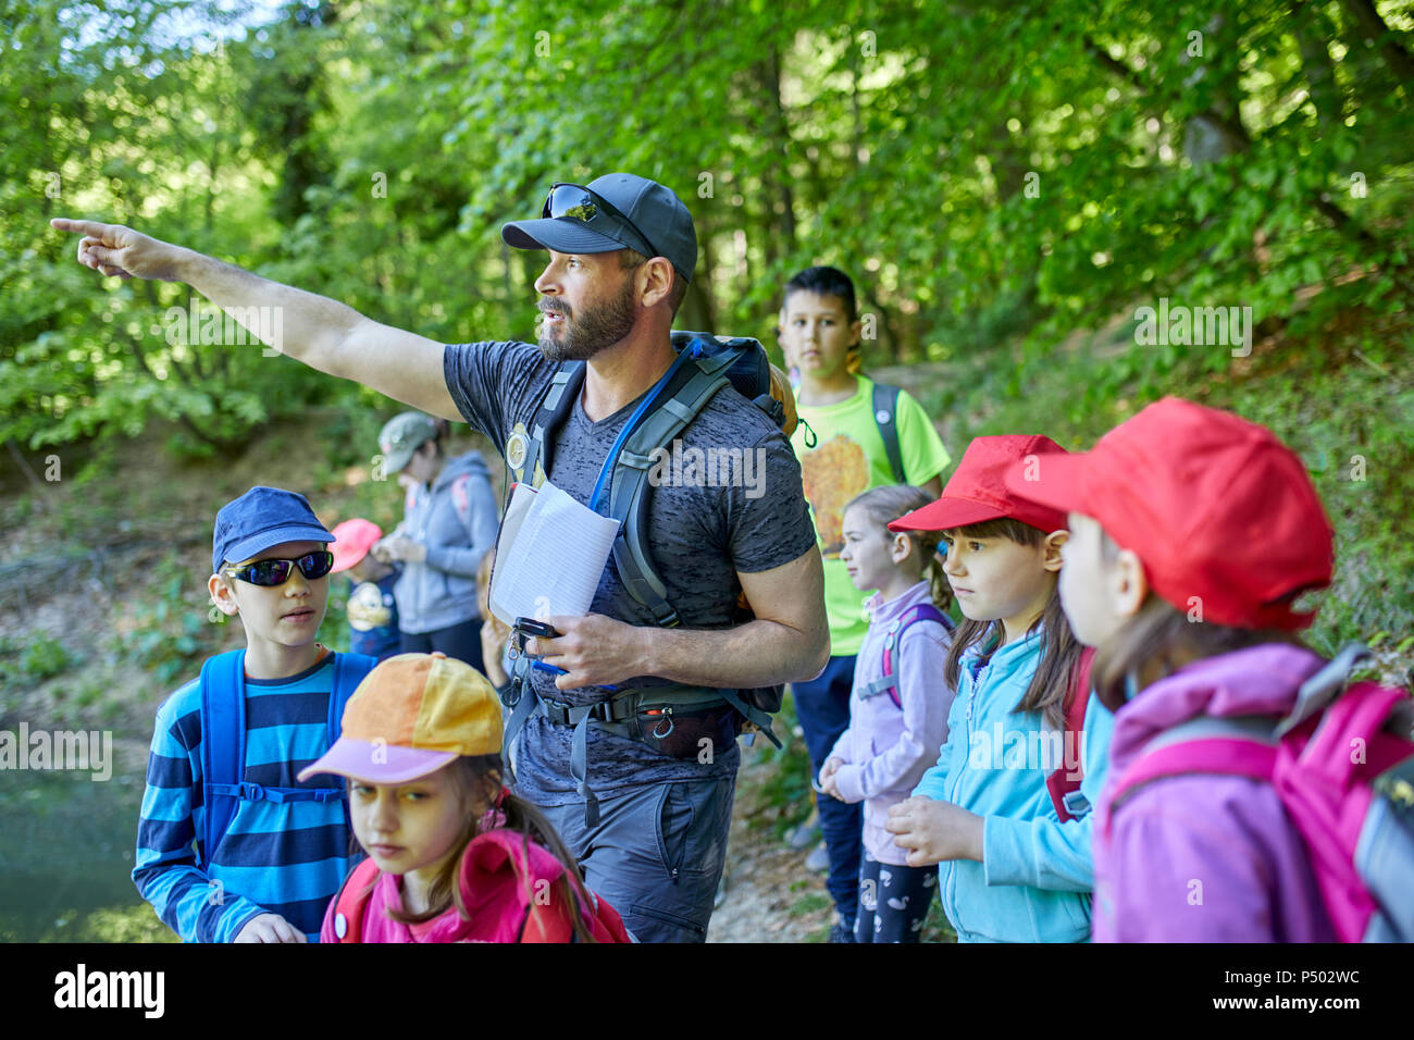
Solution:
<svg viewBox="0 0 1414 1040">
<path fill-rule="evenodd" d="M 232 649 L 201 666 L 201 782 L 206 802 L 202 869 L 211 867 L 240 798 L 246 767 L 245 659 L 243 649 Z"/>
</svg>

